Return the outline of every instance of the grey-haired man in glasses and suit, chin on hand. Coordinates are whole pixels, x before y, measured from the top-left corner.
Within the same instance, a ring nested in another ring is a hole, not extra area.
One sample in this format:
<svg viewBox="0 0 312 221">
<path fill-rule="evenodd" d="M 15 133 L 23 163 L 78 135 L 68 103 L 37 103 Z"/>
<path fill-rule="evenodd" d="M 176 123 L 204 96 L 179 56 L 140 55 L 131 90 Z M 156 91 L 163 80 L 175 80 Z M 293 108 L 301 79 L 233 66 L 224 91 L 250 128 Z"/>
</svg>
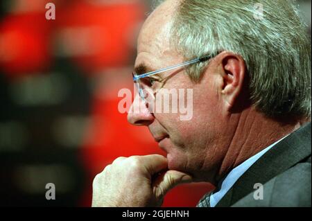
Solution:
<svg viewBox="0 0 312 221">
<path fill-rule="evenodd" d="M 311 45 L 291 1 L 257 3 L 167 0 L 148 17 L 128 121 L 167 155 L 116 159 L 92 206 L 160 206 L 186 182 L 216 186 L 198 206 L 311 206 Z M 190 121 L 152 111 L 165 89 L 193 91 Z"/>
</svg>

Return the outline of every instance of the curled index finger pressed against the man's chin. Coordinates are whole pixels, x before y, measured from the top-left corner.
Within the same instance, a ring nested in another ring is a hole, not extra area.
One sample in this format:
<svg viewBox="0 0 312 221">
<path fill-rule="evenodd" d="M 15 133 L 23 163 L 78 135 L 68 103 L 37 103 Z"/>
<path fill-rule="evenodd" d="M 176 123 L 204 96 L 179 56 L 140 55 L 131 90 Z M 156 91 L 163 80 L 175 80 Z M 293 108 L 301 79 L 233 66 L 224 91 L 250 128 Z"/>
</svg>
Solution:
<svg viewBox="0 0 312 221">
<path fill-rule="evenodd" d="M 150 175 L 154 175 L 155 173 L 159 173 L 168 168 L 166 157 L 159 154 L 142 156 L 141 161 Z"/>
</svg>

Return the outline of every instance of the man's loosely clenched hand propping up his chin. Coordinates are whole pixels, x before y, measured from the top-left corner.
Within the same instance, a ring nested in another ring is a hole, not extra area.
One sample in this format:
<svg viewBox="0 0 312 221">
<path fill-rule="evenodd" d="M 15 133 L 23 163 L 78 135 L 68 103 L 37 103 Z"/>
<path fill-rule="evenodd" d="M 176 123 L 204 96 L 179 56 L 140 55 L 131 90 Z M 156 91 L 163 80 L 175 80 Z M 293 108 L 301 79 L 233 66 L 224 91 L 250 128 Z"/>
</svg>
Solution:
<svg viewBox="0 0 312 221">
<path fill-rule="evenodd" d="M 161 206 L 171 188 L 192 180 L 167 167 L 157 154 L 115 159 L 94 178 L 92 206 Z"/>
</svg>

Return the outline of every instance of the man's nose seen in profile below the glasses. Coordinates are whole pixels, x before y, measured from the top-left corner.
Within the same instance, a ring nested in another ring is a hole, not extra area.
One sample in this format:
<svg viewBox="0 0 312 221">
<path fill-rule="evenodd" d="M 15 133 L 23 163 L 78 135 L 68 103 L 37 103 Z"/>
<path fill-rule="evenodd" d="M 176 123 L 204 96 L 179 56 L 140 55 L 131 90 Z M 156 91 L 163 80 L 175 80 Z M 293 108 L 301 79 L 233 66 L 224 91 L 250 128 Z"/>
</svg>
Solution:
<svg viewBox="0 0 312 221">
<path fill-rule="evenodd" d="M 135 96 L 135 100 L 128 112 L 128 122 L 136 126 L 148 126 L 153 123 L 154 115 L 150 113 L 144 100 L 139 95 Z"/>
</svg>

